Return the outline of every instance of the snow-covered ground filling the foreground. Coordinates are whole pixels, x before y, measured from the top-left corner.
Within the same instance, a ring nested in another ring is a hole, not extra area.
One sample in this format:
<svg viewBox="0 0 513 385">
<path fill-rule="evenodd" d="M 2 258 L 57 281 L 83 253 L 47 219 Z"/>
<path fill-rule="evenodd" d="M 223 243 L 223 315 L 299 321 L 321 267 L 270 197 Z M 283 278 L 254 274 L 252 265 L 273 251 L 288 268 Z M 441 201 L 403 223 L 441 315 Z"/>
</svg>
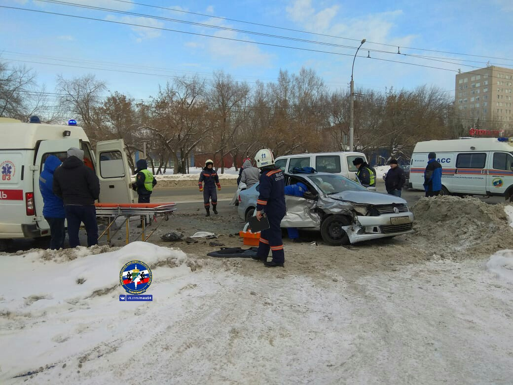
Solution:
<svg viewBox="0 0 513 385">
<path fill-rule="evenodd" d="M 87 254 L 2 257 L 0 382 L 511 383 L 513 251 L 357 275 L 141 242 Z M 119 301 L 132 259 L 153 302 Z"/>
</svg>

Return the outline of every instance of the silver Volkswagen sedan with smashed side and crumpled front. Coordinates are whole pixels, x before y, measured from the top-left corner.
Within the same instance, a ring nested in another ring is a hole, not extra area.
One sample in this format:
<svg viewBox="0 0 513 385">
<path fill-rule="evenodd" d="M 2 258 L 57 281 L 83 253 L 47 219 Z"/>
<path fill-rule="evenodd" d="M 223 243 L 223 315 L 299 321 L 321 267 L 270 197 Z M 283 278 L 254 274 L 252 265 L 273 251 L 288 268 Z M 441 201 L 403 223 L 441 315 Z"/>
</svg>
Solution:
<svg viewBox="0 0 513 385">
<path fill-rule="evenodd" d="M 413 214 L 402 198 L 369 191 L 340 175 L 286 174 L 286 185 L 301 182 L 303 197 L 285 195 L 287 214 L 282 227 L 319 229 L 330 245 L 412 233 Z M 241 191 L 239 216 L 247 220 L 254 210 L 258 186 Z"/>
</svg>

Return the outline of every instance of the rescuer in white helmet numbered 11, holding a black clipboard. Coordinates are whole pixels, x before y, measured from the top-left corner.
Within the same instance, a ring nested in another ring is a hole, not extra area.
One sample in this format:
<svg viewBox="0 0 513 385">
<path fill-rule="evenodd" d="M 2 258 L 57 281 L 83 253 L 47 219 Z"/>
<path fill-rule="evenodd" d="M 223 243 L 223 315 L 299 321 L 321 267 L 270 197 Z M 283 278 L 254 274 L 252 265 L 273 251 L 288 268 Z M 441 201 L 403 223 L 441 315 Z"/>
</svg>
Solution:
<svg viewBox="0 0 513 385">
<path fill-rule="evenodd" d="M 264 148 L 255 155 L 257 167 L 260 168 L 260 195 L 257 200 L 257 219 L 262 218 L 264 211 L 269 228 L 262 230 L 257 257 L 267 267 L 283 267 L 285 253 L 283 251 L 282 230 L 280 224 L 287 207 L 285 206 L 285 177 L 281 168 L 274 165 L 271 150 Z M 269 250 L 272 261 L 267 262 Z"/>
</svg>

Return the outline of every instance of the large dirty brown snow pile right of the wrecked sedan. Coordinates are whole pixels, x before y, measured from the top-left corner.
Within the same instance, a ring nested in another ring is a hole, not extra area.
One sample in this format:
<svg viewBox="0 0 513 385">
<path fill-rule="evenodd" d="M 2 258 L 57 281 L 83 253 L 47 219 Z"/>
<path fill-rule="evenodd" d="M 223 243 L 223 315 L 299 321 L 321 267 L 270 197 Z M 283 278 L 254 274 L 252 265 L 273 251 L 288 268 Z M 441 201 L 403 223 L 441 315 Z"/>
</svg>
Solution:
<svg viewBox="0 0 513 385">
<path fill-rule="evenodd" d="M 421 198 L 412 212 L 416 235 L 411 241 L 442 258 L 488 257 L 513 248 L 513 230 L 504 205 L 443 196 Z"/>
</svg>

